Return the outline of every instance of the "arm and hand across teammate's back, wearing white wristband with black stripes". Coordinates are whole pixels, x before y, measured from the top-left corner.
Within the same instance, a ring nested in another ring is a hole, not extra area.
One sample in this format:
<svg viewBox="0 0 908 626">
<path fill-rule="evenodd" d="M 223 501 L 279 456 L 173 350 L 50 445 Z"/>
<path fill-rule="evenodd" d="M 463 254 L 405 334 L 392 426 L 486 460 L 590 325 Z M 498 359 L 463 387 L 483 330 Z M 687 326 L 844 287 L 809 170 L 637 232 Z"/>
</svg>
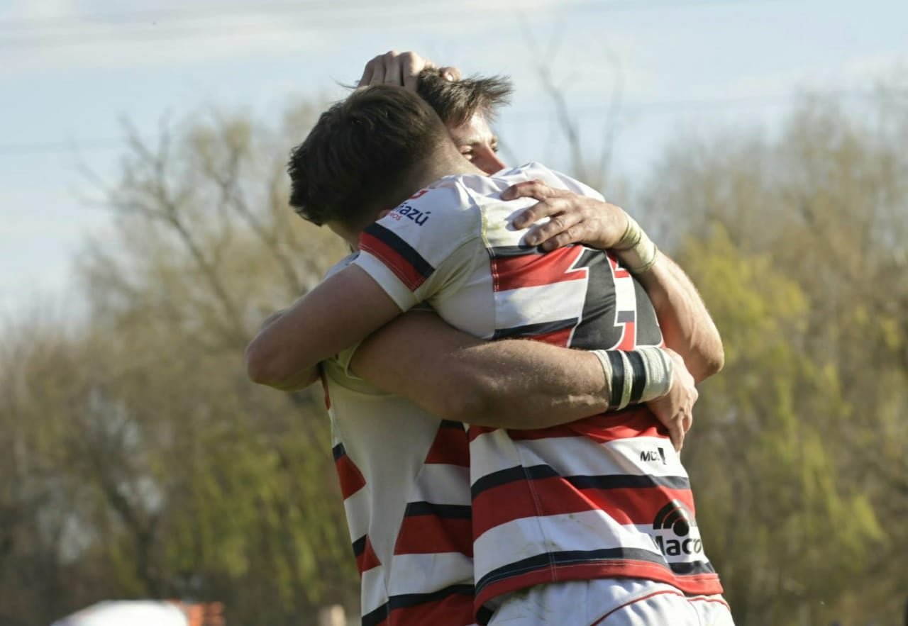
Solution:
<svg viewBox="0 0 908 626">
<path fill-rule="evenodd" d="M 652 360 L 646 360 L 646 371 L 640 369 L 643 359 L 604 367 L 592 352 L 525 339 L 482 341 L 432 312 L 411 311 L 363 341 L 350 369 L 433 416 L 504 428 L 544 428 L 602 413 L 616 407 L 617 385 L 646 379 L 638 401 L 654 400 L 651 410 L 680 449 L 696 388 L 682 359 L 666 354 L 671 380 L 660 382 L 660 366 Z"/>
</svg>

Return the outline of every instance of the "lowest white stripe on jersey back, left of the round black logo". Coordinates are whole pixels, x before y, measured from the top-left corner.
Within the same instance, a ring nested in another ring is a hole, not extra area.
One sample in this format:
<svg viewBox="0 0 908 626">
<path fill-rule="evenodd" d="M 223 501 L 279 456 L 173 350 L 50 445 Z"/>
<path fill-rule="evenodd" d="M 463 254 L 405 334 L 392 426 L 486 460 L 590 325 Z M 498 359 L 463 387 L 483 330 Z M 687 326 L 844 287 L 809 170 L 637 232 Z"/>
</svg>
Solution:
<svg viewBox="0 0 908 626">
<path fill-rule="evenodd" d="M 545 545 L 550 552 L 587 551 L 600 545 L 621 546 L 652 553 L 654 561 L 662 561 L 656 544 L 637 526 L 616 523 L 603 511 L 583 511 L 572 514 L 523 517 L 490 528 L 473 543 L 476 580 L 503 564 L 518 562 L 541 552 Z M 487 555 L 493 555 L 488 558 Z M 498 558 L 496 558 L 498 557 Z"/>
</svg>

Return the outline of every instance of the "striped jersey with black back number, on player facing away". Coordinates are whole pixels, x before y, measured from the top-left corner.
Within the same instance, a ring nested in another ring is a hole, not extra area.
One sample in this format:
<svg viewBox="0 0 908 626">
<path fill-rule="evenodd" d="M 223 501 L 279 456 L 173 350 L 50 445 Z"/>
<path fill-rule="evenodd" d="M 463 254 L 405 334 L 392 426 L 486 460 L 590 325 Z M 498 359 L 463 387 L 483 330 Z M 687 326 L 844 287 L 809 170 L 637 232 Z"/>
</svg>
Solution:
<svg viewBox="0 0 908 626">
<path fill-rule="evenodd" d="M 370 225 L 353 262 L 402 310 L 426 301 L 476 337 L 660 345 L 646 293 L 611 254 L 522 244 L 511 220 L 535 201 L 500 192 L 529 180 L 601 200 L 538 163 L 449 176 Z M 722 592 L 686 471 L 646 407 L 536 431 L 470 427 L 469 439 L 480 623 L 502 594 L 545 582 L 635 577 Z"/>
</svg>

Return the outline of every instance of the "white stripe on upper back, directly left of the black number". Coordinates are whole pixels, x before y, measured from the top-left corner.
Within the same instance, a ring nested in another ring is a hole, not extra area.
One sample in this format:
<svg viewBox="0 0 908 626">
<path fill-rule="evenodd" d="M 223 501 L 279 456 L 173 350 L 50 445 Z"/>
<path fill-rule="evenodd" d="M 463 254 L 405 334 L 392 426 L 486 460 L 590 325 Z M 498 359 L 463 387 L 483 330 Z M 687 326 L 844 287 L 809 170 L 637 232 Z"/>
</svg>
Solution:
<svg viewBox="0 0 908 626">
<path fill-rule="evenodd" d="M 587 277 L 495 292 L 495 327 L 515 328 L 583 317 Z"/>
</svg>

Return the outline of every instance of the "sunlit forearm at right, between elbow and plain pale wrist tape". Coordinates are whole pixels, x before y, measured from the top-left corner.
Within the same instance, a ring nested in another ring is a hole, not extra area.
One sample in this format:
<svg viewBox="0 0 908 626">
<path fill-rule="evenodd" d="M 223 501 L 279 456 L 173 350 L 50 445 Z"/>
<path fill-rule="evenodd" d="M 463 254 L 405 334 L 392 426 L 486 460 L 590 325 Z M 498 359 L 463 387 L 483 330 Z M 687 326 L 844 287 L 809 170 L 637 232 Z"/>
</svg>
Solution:
<svg viewBox="0 0 908 626">
<path fill-rule="evenodd" d="M 666 346 L 685 359 L 694 379 L 700 382 L 722 369 L 722 338 L 684 270 L 657 252 L 656 263 L 636 278 L 656 309 Z"/>
</svg>

